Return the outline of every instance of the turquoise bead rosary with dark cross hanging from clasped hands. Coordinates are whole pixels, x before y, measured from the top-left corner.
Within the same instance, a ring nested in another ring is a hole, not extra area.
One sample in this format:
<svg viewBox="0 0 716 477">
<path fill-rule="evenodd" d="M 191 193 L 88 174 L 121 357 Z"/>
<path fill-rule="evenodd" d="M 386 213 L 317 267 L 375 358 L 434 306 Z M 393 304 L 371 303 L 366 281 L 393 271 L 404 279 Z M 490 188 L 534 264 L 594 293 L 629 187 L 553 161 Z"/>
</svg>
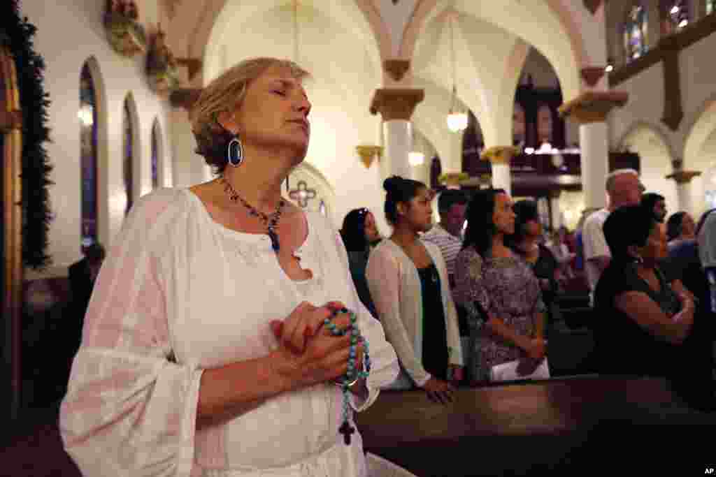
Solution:
<svg viewBox="0 0 716 477">
<path fill-rule="evenodd" d="M 333 323 L 333 319 L 336 318 L 338 313 L 349 313 L 350 315 L 350 324 L 347 328 L 344 330 L 340 330 L 335 323 Z M 343 440 L 348 446 L 351 443 L 351 434 L 355 432 L 355 428 L 351 426 L 348 414 L 349 414 L 349 393 L 350 388 L 352 385 L 354 385 L 357 380 L 360 378 L 367 379 L 368 375 L 370 373 L 370 357 L 368 355 L 368 341 L 365 338 L 362 338 L 360 334 L 360 330 L 357 325 L 357 317 L 356 314 L 352 311 L 349 311 L 347 308 L 341 308 L 340 310 L 334 310 L 334 312 L 331 314 L 329 318 L 326 318 L 324 320 L 324 324 L 328 329 L 331 331 L 331 334 L 334 336 L 344 336 L 344 335 L 350 335 L 351 337 L 351 346 L 349 349 L 348 354 L 348 371 L 346 374 L 342 375 L 338 380 L 336 380 L 336 384 L 339 385 L 343 391 L 343 423 L 341 424 L 341 427 L 338 428 L 339 433 L 343 434 Z M 363 370 L 359 371 L 358 366 L 356 364 L 356 346 L 358 344 L 358 340 L 362 339 L 363 343 Z"/>
</svg>

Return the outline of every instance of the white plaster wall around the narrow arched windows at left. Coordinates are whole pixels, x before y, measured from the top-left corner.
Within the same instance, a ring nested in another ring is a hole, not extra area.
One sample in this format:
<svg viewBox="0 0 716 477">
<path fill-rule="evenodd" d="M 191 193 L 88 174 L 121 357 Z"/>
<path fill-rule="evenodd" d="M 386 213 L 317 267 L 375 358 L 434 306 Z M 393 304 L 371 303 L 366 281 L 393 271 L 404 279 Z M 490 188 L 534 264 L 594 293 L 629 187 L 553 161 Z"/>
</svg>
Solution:
<svg viewBox="0 0 716 477">
<path fill-rule="evenodd" d="M 80 254 L 80 167 L 79 167 L 79 73 L 82 64 L 95 56 L 105 85 L 104 104 L 107 111 L 106 190 L 108 197 L 100 203 L 100 241 L 111 245 L 124 219 L 125 195 L 122 181 L 122 107 L 125 96 L 132 92 L 139 115 L 140 190 L 151 188 L 151 132 L 155 117 L 164 132 L 167 122 L 167 103 L 147 86 L 144 74 L 145 56 L 127 59 L 112 50 L 102 26 L 104 1 L 60 0 L 21 2 L 21 14 L 37 26 L 34 46 L 46 63 L 45 89 L 52 104 L 49 107 L 49 128 L 52 142 L 46 145 L 54 165 L 50 200 L 55 218 L 49 231 L 49 254 L 54 265 L 45 275 L 62 275 L 66 267 L 79 259 Z M 143 17 L 151 24 L 156 20 L 145 11 Z M 98 92 L 102 94 L 102 92 Z M 170 167 L 170 140 L 163 138 L 165 167 Z M 102 145 L 100 144 L 100 148 Z M 165 177 L 171 177 L 165 171 Z M 100 173 L 100 177 L 102 174 Z M 100 186 L 102 187 L 102 186 Z M 29 272 L 28 277 L 34 277 Z"/>
</svg>

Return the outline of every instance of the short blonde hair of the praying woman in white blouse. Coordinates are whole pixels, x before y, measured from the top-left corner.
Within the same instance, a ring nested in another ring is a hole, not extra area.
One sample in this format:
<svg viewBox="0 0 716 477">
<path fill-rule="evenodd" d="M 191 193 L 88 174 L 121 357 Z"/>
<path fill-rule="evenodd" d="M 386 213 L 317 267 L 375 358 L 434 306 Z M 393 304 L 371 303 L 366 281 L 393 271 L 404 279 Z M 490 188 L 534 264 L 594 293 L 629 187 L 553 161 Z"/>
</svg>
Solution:
<svg viewBox="0 0 716 477">
<path fill-rule="evenodd" d="M 309 72 L 287 59 L 245 59 L 209 83 L 192 107 L 190 122 L 196 153 L 204 157 L 214 172 L 221 173 L 226 168 L 226 148 L 233 139 L 233 134 L 218 123 L 219 114 L 240 108 L 248 85 L 271 67 L 288 69 L 294 79 L 309 76 Z"/>
</svg>

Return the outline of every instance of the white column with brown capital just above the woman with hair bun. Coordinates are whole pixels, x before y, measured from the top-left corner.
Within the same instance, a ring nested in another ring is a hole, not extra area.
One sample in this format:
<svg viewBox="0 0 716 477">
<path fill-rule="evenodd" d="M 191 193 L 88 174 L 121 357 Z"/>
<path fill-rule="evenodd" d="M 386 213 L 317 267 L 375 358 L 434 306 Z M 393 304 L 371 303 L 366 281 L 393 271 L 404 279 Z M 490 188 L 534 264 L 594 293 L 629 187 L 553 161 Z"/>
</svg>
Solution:
<svg viewBox="0 0 716 477">
<path fill-rule="evenodd" d="M 415 106 L 425 97 L 423 89 L 377 89 L 370 105 L 371 114 L 383 118 L 384 171 L 387 175 L 411 177 L 408 153 L 412 148 L 412 117 Z"/>
</svg>

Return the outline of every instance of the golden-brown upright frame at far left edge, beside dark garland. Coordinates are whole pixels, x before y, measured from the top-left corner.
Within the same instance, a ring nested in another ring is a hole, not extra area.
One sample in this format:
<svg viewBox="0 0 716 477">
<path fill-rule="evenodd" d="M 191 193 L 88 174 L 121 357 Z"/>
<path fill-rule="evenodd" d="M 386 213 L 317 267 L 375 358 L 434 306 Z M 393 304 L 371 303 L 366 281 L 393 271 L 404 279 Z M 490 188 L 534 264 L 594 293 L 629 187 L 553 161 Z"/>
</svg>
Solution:
<svg viewBox="0 0 716 477">
<path fill-rule="evenodd" d="M 0 47 L 0 137 L 3 150 L 1 172 L 2 219 L 2 315 L 0 330 L 4 356 L 0 368 L 1 394 L 10 396 L 10 417 L 15 417 L 20 403 L 20 312 L 22 303 L 22 210 L 21 151 L 22 119 L 17 74 L 11 53 Z M 7 378 L 6 378 L 7 377 Z"/>
</svg>

